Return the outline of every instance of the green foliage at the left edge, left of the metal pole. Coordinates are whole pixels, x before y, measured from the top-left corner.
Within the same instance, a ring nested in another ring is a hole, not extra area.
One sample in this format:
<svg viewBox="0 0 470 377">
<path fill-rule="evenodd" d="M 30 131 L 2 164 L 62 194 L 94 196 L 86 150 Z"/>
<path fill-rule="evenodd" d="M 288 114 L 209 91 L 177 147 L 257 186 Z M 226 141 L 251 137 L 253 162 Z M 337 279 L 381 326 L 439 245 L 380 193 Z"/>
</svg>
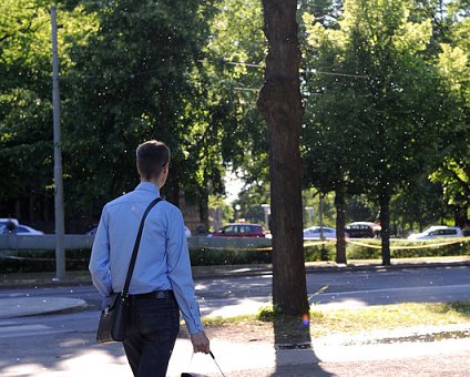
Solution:
<svg viewBox="0 0 470 377">
<path fill-rule="evenodd" d="M 32 191 L 42 194 L 51 183 L 43 173 L 51 169 L 52 154 L 52 131 L 47 126 L 50 22 L 37 1 L 24 7 L 2 2 L 0 14 L 0 200 L 4 201 Z M 32 176 L 41 184 L 37 186 Z"/>
</svg>

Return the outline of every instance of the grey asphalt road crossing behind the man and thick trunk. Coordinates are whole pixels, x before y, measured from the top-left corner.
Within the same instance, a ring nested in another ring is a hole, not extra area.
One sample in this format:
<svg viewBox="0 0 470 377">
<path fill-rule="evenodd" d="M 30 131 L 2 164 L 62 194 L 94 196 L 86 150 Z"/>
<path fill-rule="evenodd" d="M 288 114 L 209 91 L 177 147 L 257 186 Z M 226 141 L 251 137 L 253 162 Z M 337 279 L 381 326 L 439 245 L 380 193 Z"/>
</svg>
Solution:
<svg viewBox="0 0 470 377">
<path fill-rule="evenodd" d="M 470 266 L 325 271 L 306 275 L 310 304 L 365 306 L 403 302 L 470 300 Z M 196 279 L 203 315 L 256 313 L 270 302 L 272 275 L 233 275 Z M 321 293 L 320 293 L 321 292 Z M 61 296 L 82 298 L 94 310 L 101 298 L 91 285 L 1 289 L 1 297 Z"/>
</svg>

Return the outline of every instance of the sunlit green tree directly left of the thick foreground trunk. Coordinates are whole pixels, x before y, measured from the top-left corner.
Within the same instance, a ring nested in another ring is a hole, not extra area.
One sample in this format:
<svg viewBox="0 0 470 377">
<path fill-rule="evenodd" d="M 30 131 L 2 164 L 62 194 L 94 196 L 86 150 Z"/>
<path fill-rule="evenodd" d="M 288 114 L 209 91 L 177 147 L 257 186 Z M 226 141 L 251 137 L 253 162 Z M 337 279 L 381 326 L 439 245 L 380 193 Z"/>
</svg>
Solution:
<svg viewBox="0 0 470 377">
<path fill-rule="evenodd" d="M 214 172 L 223 175 L 232 170 L 245 182 L 267 181 L 267 174 L 260 172 L 266 159 L 259 157 L 267 154 L 266 125 L 256 110 L 265 39 L 259 0 L 219 1 L 214 9 L 204 59 L 194 75 L 201 95 L 193 130 L 197 129 L 194 145 L 204 156 L 200 176 L 207 182 L 201 190 L 223 194 Z"/>
</svg>

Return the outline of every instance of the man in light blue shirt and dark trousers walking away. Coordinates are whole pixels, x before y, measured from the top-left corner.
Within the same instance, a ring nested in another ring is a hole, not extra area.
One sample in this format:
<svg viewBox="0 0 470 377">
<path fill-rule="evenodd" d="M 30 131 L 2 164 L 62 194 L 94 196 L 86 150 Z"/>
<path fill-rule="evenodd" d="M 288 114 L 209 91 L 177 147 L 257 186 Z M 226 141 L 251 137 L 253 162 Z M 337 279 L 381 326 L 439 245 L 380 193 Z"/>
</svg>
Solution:
<svg viewBox="0 0 470 377">
<path fill-rule="evenodd" d="M 140 221 L 166 182 L 170 155 L 159 141 L 139 145 L 141 183 L 103 208 L 89 266 L 103 298 L 123 289 Z M 183 215 L 166 201 L 145 220 L 129 293 L 131 315 L 123 346 L 134 376 L 165 376 L 180 332 L 180 310 L 194 351 L 210 353 L 195 300 Z"/>
</svg>

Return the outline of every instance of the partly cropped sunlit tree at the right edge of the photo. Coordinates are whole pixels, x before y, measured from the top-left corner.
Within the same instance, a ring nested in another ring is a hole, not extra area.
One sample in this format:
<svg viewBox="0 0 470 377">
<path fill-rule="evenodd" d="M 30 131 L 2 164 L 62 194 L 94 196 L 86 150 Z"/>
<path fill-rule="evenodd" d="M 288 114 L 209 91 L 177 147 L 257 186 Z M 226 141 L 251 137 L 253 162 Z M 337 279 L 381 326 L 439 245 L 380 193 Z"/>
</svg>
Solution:
<svg viewBox="0 0 470 377">
<path fill-rule="evenodd" d="M 439 71 L 449 89 L 449 126 L 445 137 L 450 142 L 431 181 L 443 186 L 456 224 L 470 227 L 470 3 L 456 1 L 450 10 L 454 22 L 438 57 Z"/>
</svg>

